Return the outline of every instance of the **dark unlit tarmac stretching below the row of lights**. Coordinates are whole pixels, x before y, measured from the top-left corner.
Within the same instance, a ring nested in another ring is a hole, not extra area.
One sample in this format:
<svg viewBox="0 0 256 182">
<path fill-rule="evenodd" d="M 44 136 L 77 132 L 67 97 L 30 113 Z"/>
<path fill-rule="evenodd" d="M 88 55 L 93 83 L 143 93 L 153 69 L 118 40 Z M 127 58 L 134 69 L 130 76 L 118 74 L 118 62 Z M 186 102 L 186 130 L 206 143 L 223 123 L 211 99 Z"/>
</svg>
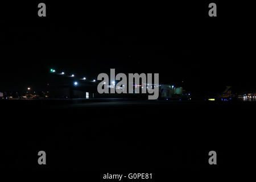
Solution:
<svg viewBox="0 0 256 182">
<path fill-rule="evenodd" d="M 157 172 L 253 164 L 255 102 L 0 101 L 9 169 Z M 47 165 L 38 165 L 38 151 Z"/>
</svg>

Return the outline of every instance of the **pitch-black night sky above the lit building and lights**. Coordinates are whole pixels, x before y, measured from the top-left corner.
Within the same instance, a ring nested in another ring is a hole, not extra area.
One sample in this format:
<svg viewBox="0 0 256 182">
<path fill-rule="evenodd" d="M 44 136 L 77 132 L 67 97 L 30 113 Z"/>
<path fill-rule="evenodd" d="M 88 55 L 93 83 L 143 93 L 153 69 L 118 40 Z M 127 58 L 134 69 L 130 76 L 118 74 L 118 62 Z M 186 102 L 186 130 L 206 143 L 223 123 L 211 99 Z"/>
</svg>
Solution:
<svg viewBox="0 0 256 182">
<path fill-rule="evenodd" d="M 253 16 L 240 4 L 216 2 L 210 18 L 209 2 L 44 2 L 46 18 L 39 2 L 3 6 L 0 91 L 46 84 L 50 68 L 91 79 L 110 68 L 159 73 L 200 93 L 255 89 Z"/>
</svg>

